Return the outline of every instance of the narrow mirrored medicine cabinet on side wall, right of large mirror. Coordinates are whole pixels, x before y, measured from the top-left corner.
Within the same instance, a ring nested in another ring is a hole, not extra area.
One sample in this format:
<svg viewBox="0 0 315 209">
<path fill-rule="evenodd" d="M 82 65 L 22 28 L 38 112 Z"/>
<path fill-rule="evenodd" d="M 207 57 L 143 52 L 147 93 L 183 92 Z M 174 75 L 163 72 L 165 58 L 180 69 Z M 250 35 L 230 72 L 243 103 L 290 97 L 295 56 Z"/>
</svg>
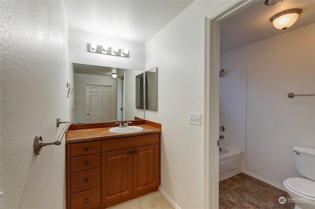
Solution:
<svg viewBox="0 0 315 209">
<path fill-rule="evenodd" d="M 158 68 L 145 71 L 145 106 L 158 111 Z"/>
</svg>

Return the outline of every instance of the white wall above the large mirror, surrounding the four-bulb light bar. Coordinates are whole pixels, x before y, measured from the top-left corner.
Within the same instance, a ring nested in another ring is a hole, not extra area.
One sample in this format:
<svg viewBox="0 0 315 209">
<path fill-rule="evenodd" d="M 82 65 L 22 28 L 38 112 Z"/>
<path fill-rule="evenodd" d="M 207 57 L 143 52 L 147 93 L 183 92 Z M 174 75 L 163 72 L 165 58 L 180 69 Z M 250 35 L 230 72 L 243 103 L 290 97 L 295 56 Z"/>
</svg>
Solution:
<svg viewBox="0 0 315 209">
<path fill-rule="evenodd" d="M 133 70 L 144 70 L 145 45 L 134 41 L 94 34 L 69 28 L 69 62 L 106 66 L 113 68 L 124 68 Z M 128 49 L 129 58 L 117 57 L 92 53 L 87 51 L 87 43 L 97 45 L 108 44 L 110 47 Z"/>
</svg>

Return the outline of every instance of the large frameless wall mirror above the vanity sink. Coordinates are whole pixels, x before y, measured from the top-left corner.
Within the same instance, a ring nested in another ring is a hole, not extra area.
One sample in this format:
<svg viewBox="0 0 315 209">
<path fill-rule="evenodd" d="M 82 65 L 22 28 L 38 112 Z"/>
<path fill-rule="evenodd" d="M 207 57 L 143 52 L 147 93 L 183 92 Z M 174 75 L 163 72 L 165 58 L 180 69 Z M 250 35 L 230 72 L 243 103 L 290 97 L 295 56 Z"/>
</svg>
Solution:
<svg viewBox="0 0 315 209">
<path fill-rule="evenodd" d="M 72 63 L 72 124 L 144 118 L 144 110 L 135 106 L 135 77 L 142 72 Z"/>
</svg>

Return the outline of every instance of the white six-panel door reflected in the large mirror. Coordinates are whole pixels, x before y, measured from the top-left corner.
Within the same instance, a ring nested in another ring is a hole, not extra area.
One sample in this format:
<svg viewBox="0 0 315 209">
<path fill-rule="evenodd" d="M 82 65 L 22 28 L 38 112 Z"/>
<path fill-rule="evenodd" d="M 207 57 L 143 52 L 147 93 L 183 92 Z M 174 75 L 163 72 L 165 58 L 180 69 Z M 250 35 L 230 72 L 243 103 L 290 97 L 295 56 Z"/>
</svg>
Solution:
<svg viewBox="0 0 315 209">
<path fill-rule="evenodd" d="M 111 86 L 86 85 L 86 122 L 111 122 Z"/>
</svg>

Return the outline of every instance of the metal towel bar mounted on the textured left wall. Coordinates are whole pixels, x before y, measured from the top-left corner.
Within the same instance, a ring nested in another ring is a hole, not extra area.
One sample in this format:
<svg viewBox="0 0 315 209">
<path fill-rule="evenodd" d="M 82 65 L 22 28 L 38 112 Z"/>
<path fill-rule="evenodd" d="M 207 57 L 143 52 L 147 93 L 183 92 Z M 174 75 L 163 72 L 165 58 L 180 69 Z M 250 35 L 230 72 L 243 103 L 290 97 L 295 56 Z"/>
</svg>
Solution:
<svg viewBox="0 0 315 209">
<path fill-rule="evenodd" d="M 35 153 L 35 155 L 39 155 L 41 153 L 41 148 L 43 146 L 52 145 L 52 144 L 55 144 L 55 145 L 61 144 L 61 140 L 63 139 L 64 133 L 66 132 L 70 122 L 69 121 L 62 122 L 62 121 L 60 121 L 60 118 L 57 118 L 57 127 L 59 127 L 59 125 L 61 123 L 65 123 L 65 126 L 63 127 L 63 130 L 60 133 L 60 135 L 56 141 L 44 142 L 40 135 L 35 136 L 35 139 L 34 139 L 34 153 Z"/>
</svg>

